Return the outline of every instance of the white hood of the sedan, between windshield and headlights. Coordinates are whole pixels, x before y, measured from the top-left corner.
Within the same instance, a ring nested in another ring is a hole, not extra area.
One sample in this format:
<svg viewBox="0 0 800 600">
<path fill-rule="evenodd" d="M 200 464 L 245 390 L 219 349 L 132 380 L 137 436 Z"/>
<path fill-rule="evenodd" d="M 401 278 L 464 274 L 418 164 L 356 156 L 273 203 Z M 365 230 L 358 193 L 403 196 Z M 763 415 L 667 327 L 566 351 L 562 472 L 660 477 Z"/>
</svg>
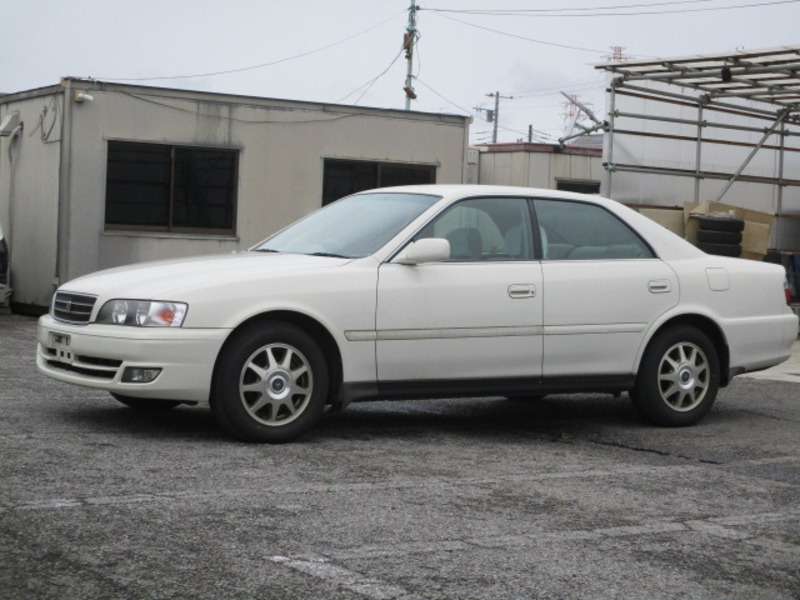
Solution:
<svg viewBox="0 0 800 600">
<path fill-rule="evenodd" d="M 73 279 L 61 289 L 101 299 L 180 301 L 204 289 L 311 275 L 348 262 L 351 259 L 265 252 L 198 256 L 106 269 Z"/>
</svg>

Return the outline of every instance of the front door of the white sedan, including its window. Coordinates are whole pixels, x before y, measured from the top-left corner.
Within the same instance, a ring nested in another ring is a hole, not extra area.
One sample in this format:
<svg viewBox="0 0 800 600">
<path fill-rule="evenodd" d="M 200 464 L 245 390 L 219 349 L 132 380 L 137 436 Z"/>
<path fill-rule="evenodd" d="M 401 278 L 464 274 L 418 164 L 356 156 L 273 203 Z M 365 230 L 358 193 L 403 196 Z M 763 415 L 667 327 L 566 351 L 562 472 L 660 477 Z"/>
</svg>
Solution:
<svg viewBox="0 0 800 600">
<path fill-rule="evenodd" d="M 538 378 L 542 272 L 529 201 L 463 200 L 414 239 L 428 237 L 448 239 L 448 261 L 379 269 L 379 382 Z"/>
</svg>

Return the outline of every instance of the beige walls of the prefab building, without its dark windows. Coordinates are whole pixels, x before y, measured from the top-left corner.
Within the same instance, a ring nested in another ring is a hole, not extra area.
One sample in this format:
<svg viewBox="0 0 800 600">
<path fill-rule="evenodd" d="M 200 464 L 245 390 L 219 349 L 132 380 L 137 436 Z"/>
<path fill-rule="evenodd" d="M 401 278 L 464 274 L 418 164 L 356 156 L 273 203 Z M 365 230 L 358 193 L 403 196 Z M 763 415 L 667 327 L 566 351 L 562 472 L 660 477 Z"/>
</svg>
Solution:
<svg viewBox="0 0 800 600">
<path fill-rule="evenodd" d="M 15 165 L 17 199 L 26 199 L 16 202 L 21 206 L 14 217 L 12 252 L 22 255 L 12 274 L 17 303 L 47 304 L 56 273 L 63 283 L 106 267 L 250 247 L 321 206 L 325 158 L 434 165 L 438 183 L 460 183 L 465 176 L 468 124 L 463 117 L 79 80 L 65 80 L 63 86 L 63 94 L 53 92 L 63 102 L 58 126 L 63 148 L 26 135 Z M 75 102 L 76 91 L 93 99 Z M 31 103 L 25 104 L 26 130 L 49 101 L 25 100 Z M 6 104 L 4 110 L 22 105 Z M 109 140 L 238 149 L 235 234 L 105 231 Z M 0 164 L 2 210 L 8 204 L 9 165 L 1 158 Z M 49 257 L 35 273 L 29 247 Z"/>
</svg>

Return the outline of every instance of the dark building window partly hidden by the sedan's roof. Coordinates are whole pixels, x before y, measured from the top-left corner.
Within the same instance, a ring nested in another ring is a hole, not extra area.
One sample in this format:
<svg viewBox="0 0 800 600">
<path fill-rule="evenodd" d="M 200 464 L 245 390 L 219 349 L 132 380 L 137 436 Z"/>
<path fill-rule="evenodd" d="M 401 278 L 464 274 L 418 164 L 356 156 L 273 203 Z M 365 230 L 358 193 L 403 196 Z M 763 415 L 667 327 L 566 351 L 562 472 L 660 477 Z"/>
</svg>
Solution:
<svg viewBox="0 0 800 600">
<path fill-rule="evenodd" d="M 434 166 L 329 158 L 325 159 L 322 204 L 378 187 L 435 182 Z"/>
</svg>

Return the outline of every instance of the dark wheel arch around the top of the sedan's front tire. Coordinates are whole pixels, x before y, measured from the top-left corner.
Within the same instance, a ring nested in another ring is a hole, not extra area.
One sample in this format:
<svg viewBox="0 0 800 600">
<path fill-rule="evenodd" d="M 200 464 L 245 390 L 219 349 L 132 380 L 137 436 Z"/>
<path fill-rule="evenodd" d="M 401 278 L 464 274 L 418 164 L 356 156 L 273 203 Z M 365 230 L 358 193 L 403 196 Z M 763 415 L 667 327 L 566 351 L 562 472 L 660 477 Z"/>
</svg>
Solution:
<svg viewBox="0 0 800 600">
<path fill-rule="evenodd" d="M 247 331 L 253 327 L 261 327 L 270 322 L 289 323 L 302 329 L 320 345 L 322 354 L 325 356 L 325 361 L 328 365 L 328 373 L 330 377 L 330 391 L 328 401 L 336 401 L 339 397 L 339 391 L 342 383 L 342 355 L 339 350 L 339 345 L 336 343 L 331 332 L 319 321 L 309 317 L 303 313 L 290 311 L 290 310 L 276 310 L 254 315 L 237 325 L 230 335 L 222 344 L 217 358 L 214 361 L 214 372 L 211 377 L 211 389 L 214 390 L 217 385 L 217 373 L 219 372 L 219 363 L 221 357 L 224 355 L 227 348 L 233 343 L 237 336 L 243 331 Z M 213 397 L 213 392 L 212 392 Z"/>
</svg>

